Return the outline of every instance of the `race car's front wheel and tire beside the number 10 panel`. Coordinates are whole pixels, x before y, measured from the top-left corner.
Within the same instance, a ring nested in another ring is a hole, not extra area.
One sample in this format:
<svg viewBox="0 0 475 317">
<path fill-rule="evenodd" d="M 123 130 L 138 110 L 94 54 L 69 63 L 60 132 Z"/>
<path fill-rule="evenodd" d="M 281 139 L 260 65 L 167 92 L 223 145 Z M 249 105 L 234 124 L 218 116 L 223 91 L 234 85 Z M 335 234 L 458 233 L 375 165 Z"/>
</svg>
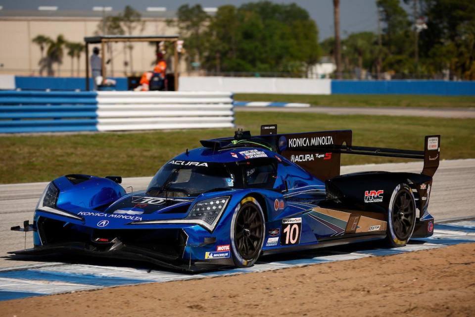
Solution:
<svg viewBox="0 0 475 317">
<path fill-rule="evenodd" d="M 231 221 L 231 248 L 236 266 L 254 265 L 261 254 L 265 232 L 266 222 L 261 206 L 253 197 L 245 197 Z"/>
</svg>

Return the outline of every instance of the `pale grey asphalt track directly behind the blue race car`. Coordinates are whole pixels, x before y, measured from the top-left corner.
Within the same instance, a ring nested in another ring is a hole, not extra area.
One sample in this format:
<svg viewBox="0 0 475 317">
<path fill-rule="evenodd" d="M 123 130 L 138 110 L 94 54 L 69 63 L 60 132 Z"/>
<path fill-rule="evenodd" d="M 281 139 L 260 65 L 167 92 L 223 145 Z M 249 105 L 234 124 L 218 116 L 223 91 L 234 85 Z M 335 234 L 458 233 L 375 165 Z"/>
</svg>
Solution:
<svg viewBox="0 0 475 317">
<path fill-rule="evenodd" d="M 422 162 L 349 165 L 341 167 L 341 174 L 370 170 L 420 173 L 422 167 Z M 429 198 L 429 211 L 435 217 L 435 222 L 475 218 L 474 179 L 475 159 L 440 161 Z M 132 186 L 134 191 L 143 190 L 150 180 L 151 176 L 124 178 L 121 185 L 124 188 Z M 22 225 L 23 220 L 32 220 L 33 211 L 46 185 L 47 182 L 0 185 L 0 267 L 25 264 L 23 261 L 8 260 L 8 251 L 25 247 L 24 235 L 11 231 L 10 227 Z M 127 192 L 131 190 L 128 188 Z M 27 233 L 26 247 L 32 245 L 32 234 Z"/>
</svg>

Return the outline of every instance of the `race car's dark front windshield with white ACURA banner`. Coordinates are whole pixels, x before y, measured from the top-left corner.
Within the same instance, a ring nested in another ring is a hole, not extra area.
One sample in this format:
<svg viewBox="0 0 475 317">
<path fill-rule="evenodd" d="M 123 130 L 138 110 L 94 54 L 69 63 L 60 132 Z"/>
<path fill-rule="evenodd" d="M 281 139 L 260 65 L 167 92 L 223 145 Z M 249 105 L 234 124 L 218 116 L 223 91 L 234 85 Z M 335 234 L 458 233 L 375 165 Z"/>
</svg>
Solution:
<svg viewBox="0 0 475 317">
<path fill-rule="evenodd" d="M 193 197 L 214 189 L 233 189 L 235 176 L 224 164 L 171 160 L 158 170 L 147 195 Z"/>
</svg>

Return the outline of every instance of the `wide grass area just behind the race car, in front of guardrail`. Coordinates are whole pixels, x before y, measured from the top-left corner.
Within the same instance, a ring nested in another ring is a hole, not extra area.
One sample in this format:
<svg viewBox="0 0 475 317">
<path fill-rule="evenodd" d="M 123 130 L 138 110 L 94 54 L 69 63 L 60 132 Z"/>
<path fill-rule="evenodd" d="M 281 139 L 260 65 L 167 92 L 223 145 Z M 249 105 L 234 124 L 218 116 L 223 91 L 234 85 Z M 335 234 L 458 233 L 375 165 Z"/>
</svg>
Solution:
<svg viewBox="0 0 475 317">
<path fill-rule="evenodd" d="M 353 144 L 422 150 L 424 136 L 441 134 L 441 158 L 475 158 L 475 119 L 237 112 L 239 128 L 259 133 L 265 123 L 279 132 L 352 129 Z M 60 175 L 149 176 L 199 140 L 234 135 L 235 129 L 12 135 L 0 137 L 0 183 L 49 181 Z M 342 164 L 404 161 L 343 156 Z"/>
</svg>

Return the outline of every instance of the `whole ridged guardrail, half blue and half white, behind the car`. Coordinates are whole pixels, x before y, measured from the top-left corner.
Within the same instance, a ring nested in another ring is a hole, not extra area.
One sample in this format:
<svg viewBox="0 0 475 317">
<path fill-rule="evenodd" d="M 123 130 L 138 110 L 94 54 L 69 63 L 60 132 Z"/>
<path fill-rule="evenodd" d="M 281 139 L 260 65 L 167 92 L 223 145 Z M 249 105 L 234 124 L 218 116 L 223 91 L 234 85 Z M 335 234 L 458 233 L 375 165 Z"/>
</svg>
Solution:
<svg viewBox="0 0 475 317">
<path fill-rule="evenodd" d="M 231 127 L 231 93 L 0 91 L 0 133 Z"/>
</svg>

